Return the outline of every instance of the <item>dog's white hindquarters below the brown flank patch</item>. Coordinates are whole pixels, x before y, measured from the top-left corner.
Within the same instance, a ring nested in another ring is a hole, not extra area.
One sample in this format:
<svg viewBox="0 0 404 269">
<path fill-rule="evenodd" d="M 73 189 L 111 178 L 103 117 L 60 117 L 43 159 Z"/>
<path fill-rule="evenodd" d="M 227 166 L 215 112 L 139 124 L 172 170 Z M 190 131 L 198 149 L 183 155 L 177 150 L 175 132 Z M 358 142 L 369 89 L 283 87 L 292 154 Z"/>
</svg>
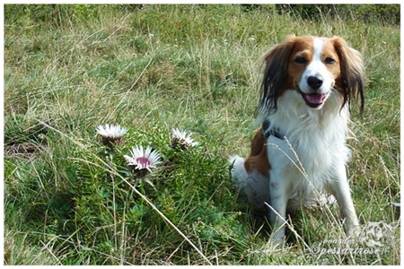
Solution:
<svg viewBox="0 0 404 269">
<path fill-rule="evenodd" d="M 229 162 L 233 165 L 232 178 L 236 185 L 246 195 L 249 203 L 256 210 L 266 210 L 265 202 L 269 201 L 269 178 L 253 169 L 247 172 L 245 160 L 240 156 L 230 156 Z"/>
</svg>

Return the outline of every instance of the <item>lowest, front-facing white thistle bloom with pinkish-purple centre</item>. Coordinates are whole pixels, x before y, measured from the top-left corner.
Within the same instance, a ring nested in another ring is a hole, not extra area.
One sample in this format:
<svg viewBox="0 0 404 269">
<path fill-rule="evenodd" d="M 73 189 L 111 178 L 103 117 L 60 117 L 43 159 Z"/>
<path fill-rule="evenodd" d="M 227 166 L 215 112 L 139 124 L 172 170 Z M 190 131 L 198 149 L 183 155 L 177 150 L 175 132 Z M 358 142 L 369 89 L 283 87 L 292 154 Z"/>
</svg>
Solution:
<svg viewBox="0 0 404 269">
<path fill-rule="evenodd" d="M 146 169 L 152 172 L 152 169 L 155 169 L 157 164 L 162 162 L 160 161 L 160 154 L 153 151 L 150 146 L 147 146 L 145 150 L 143 146 L 132 147 L 130 153 L 131 156 L 124 155 L 124 157 L 127 160 L 127 165 L 134 171 L 145 171 Z"/>
</svg>

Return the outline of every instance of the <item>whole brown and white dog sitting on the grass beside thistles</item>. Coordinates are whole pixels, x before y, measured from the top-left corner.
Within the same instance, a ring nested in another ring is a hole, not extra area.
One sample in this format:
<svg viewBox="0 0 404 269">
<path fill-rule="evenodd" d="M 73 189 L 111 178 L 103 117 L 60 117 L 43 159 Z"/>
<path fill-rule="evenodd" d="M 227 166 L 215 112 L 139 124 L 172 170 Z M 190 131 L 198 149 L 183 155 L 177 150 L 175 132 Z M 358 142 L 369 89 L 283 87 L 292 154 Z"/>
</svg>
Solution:
<svg viewBox="0 0 404 269">
<path fill-rule="evenodd" d="M 231 157 L 232 176 L 255 207 L 268 209 L 274 239 L 285 238 L 286 212 L 334 195 L 345 228 L 358 228 L 347 183 L 350 101 L 364 106 L 360 54 L 338 37 L 285 39 L 265 56 L 259 128 L 250 156 Z M 269 206 L 268 206 L 269 205 Z"/>
</svg>

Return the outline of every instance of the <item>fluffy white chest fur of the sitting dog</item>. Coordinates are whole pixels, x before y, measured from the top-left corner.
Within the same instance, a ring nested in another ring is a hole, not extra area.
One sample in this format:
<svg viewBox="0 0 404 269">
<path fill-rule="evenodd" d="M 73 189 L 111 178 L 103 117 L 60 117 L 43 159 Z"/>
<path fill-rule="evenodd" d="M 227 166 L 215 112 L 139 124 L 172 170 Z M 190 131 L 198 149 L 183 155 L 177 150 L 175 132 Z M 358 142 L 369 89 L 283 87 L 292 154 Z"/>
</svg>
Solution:
<svg viewBox="0 0 404 269">
<path fill-rule="evenodd" d="M 336 169 L 348 159 L 348 112 L 346 108 L 339 111 L 338 98 L 338 94 L 331 93 L 325 108 L 314 110 L 304 104 L 300 94 L 287 91 L 278 100 L 277 113 L 267 117 L 271 126 L 285 134 L 284 140 L 268 138 L 272 174 L 282 175 L 291 199 L 299 199 L 302 204 L 312 204 L 316 193 L 322 193 L 332 183 Z M 292 102 L 294 109 L 283 106 L 284 101 Z"/>
</svg>

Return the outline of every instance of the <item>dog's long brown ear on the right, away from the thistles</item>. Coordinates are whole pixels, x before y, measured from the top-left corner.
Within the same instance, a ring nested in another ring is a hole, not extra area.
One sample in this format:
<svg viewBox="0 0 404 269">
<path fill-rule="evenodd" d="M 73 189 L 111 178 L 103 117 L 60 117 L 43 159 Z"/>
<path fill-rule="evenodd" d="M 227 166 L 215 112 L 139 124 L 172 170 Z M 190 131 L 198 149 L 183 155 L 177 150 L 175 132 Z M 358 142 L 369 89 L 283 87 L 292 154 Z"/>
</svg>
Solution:
<svg viewBox="0 0 404 269">
<path fill-rule="evenodd" d="M 359 98 L 362 114 L 364 111 L 364 64 L 362 56 L 356 49 L 350 48 L 344 39 L 333 37 L 333 43 L 341 67 L 340 87 L 344 93 L 342 107 L 346 103 L 350 106 L 351 100 Z"/>
</svg>

